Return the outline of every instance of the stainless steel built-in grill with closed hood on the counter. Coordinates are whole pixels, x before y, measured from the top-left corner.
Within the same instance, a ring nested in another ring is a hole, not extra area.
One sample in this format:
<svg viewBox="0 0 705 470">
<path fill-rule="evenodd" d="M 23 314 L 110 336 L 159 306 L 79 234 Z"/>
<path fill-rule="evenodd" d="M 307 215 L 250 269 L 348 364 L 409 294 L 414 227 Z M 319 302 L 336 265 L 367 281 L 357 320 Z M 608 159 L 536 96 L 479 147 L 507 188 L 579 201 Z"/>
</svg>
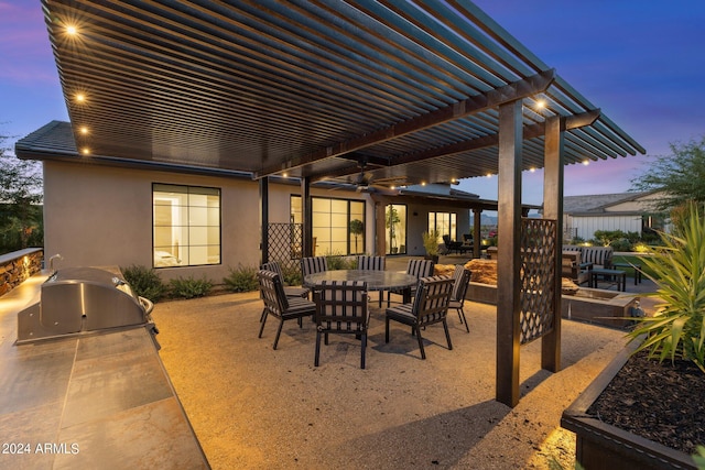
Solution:
<svg viewBox="0 0 705 470">
<path fill-rule="evenodd" d="M 118 269 L 62 269 L 42 284 L 40 300 L 18 314 L 18 343 L 130 327 L 155 335 L 152 308 Z"/>
</svg>

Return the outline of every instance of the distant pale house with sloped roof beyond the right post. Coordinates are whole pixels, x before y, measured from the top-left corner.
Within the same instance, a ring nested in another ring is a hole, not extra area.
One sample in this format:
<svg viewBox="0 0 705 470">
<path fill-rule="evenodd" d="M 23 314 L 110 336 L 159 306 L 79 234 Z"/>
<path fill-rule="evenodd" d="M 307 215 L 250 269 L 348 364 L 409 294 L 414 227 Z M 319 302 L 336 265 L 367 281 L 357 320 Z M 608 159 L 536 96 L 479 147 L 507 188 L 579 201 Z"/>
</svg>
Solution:
<svg viewBox="0 0 705 470">
<path fill-rule="evenodd" d="M 642 233 L 664 229 L 664 218 L 652 209 L 660 193 L 622 193 L 563 198 L 564 239 L 590 240 L 598 230 Z"/>
</svg>

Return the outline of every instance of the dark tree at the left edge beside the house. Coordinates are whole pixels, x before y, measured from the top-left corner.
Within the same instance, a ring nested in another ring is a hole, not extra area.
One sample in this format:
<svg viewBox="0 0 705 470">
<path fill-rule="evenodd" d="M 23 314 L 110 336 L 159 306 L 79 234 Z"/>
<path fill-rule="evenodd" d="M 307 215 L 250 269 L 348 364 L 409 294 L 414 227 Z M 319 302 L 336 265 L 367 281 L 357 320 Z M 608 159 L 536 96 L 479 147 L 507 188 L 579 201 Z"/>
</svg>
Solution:
<svg viewBox="0 0 705 470">
<path fill-rule="evenodd" d="M 19 160 L 0 135 L 0 250 L 10 252 L 42 244 L 41 164 Z"/>
</svg>

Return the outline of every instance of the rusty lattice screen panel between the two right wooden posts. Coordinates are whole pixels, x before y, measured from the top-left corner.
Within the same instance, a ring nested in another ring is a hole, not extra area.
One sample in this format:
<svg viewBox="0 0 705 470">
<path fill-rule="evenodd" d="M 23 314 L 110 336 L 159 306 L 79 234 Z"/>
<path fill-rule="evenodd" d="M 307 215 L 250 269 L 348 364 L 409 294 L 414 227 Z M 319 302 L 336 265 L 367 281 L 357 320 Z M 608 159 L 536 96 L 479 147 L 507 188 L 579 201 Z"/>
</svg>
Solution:
<svg viewBox="0 0 705 470">
<path fill-rule="evenodd" d="M 521 343 L 553 330 L 555 320 L 556 221 L 522 219 Z"/>
</svg>

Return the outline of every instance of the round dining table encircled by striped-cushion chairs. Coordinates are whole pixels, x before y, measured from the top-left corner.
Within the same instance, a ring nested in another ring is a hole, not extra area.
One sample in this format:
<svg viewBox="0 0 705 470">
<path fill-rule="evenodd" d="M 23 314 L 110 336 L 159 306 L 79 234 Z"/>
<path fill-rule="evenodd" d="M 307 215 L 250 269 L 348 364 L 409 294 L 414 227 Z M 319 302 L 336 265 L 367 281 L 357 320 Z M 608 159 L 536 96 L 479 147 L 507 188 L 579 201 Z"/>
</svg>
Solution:
<svg viewBox="0 0 705 470">
<path fill-rule="evenodd" d="M 306 275 L 304 285 L 315 289 L 324 281 L 364 281 L 368 291 L 403 291 L 404 303 L 411 302 L 411 287 L 419 282 L 416 276 L 395 271 L 332 270 Z"/>
</svg>

